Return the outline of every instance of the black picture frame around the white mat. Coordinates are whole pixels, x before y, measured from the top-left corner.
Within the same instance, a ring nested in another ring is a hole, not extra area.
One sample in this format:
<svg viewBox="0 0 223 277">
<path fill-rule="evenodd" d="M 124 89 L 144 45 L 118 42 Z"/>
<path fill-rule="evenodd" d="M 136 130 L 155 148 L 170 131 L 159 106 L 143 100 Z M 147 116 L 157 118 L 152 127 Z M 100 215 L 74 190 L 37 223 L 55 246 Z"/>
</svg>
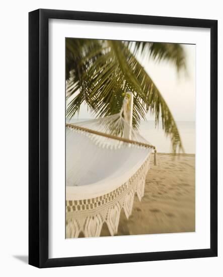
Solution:
<svg viewBox="0 0 223 277">
<path fill-rule="evenodd" d="M 210 248 L 48 258 L 48 20 L 210 29 Z M 29 13 L 29 264 L 37 267 L 217 256 L 217 21 L 128 14 L 36 10 Z"/>
</svg>

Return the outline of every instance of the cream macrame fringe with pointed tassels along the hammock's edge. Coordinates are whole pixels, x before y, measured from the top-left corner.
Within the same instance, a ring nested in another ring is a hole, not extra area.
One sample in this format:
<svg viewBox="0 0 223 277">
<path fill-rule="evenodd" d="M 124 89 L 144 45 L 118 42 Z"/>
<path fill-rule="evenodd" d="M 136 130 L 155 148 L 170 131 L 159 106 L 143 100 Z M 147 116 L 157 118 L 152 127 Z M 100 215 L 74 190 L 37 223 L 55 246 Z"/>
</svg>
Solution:
<svg viewBox="0 0 223 277">
<path fill-rule="evenodd" d="M 90 199 L 66 200 L 66 238 L 78 238 L 81 232 L 85 237 L 99 237 L 104 223 L 110 235 L 116 235 L 121 210 L 124 210 L 128 219 L 132 213 L 134 195 L 137 194 L 139 201 L 144 195 L 149 168 L 150 157 L 127 182 L 115 190 Z"/>
</svg>

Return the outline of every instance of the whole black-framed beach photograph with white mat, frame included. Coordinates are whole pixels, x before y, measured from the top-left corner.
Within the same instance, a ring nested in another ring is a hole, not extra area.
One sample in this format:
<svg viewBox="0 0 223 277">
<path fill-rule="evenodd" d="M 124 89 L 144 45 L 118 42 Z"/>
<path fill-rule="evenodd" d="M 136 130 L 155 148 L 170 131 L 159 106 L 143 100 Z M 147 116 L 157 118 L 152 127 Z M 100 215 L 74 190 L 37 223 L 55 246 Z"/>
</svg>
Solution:
<svg viewBox="0 0 223 277">
<path fill-rule="evenodd" d="M 217 256 L 217 21 L 29 13 L 29 264 Z"/>
</svg>

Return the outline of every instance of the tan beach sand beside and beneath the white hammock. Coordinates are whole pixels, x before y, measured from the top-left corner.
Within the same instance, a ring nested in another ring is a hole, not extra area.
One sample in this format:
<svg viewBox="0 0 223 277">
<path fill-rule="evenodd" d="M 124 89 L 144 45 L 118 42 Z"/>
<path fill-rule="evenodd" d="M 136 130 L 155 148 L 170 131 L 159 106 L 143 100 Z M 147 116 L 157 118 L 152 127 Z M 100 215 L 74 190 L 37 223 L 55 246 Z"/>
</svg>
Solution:
<svg viewBox="0 0 223 277">
<path fill-rule="evenodd" d="M 195 155 L 157 154 L 146 175 L 141 202 L 135 195 L 127 220 L 122 210 L 117 236 L 195 231 Z M 101 236 L 109 236 L 103 225 Z"/>
</svg>

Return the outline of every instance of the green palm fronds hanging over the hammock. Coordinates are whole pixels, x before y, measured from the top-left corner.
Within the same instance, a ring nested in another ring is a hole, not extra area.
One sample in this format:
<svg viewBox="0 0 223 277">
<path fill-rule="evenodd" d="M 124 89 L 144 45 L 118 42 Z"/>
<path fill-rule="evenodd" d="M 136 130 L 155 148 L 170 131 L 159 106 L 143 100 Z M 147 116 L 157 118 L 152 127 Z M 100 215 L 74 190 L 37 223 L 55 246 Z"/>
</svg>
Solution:
<svg viewBox="0 0 223 277">
<path fill-rule="evenodd" d="M 177 71 L 185 67 L 185 52 L 180 44 L 129 42 L 98 39 L 66 39 L 67 117 L 79 113 L 83 102 L 98 116 L 120 111 L 123 93 L 134 94 L 133 127 L 147 112 L 162 120 L 170 136 L 173 152 L 183 151 L 180 134 L 167 103 L 137 56 L 172 62 Z"/>
</svg>

